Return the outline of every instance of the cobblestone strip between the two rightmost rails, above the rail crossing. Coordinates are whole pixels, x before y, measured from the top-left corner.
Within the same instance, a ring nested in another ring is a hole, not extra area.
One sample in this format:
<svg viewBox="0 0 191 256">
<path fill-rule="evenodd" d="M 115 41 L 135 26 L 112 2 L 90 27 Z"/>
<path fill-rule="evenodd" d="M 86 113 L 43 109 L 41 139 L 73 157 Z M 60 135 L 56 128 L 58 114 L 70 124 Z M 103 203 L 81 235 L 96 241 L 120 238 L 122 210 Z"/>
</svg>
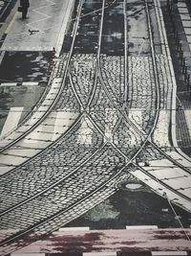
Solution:
<svg viewBox="0 0 191 256">
<path fill-rule="evenodd" d="M 136 64 L 135 64 L 136 63 Z M 128 59 L 130 108 L 140 111 L 141 128 L 149 131 L 153 126 L 156 111 L 156 84 L 151 57 L 131 57 Z"/>
</svg>

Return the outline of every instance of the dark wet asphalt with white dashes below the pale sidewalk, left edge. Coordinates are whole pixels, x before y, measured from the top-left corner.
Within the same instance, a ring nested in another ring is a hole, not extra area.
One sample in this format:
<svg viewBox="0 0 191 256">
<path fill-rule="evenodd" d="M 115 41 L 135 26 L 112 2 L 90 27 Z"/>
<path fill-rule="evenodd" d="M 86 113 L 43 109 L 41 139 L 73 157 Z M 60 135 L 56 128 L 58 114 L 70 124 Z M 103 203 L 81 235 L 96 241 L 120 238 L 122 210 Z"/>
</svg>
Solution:
<svg viewBox="0 0 191 256">
<path fill-rule="evenodd" d="M 6 52 L 0 64 L 0 131 L 11 107 L 24 107 L 21 122 L 38 102 L 50 74 L 51 52 Z M 24 85 L 24 82 L 36 85 Z"/>
</svg>

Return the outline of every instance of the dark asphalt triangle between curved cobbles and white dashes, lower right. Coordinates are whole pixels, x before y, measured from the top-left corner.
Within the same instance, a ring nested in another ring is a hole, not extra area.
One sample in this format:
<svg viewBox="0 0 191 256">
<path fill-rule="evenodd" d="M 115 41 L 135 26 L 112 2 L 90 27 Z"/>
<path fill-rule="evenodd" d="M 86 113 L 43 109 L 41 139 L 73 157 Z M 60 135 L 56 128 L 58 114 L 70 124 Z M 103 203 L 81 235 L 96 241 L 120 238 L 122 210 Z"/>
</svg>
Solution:
<svg viewBox="0 0 191 256">
<path fill-rule="evenodd" d="M 130 183 L 131 184 L 131 183 Z M 133 184 L 133 187 L 138 183 Z M 180 228 L 180 223 L 164 198 L 153 194 L 144 185 L 129 190 L 123 185 L 114 196 L 70 222 L 67 226 L 89 226 L 91 229 L 123 229 L 126 225 L 158 225 L 159 228 Z M 179 207 L 175 210 L 184 227 L 191 224 L 191 214 Z"/>
</svg>

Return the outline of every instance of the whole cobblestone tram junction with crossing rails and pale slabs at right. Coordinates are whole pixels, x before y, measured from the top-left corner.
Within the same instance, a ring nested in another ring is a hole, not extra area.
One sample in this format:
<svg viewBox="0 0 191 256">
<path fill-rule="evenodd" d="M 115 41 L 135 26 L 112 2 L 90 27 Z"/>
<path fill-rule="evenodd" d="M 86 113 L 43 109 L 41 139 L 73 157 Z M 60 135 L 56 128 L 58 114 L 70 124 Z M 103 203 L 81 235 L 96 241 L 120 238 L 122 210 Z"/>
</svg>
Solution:
<svg viewBox="0 0 191 256">
<path fill-rule="evenodd" d="M 101 4 L 98 32 L 106 3 Z M 146 34 L 147 23 L 145 28 Z M 96 35 L 99 42 L 100 36 L 101 31 Z M 118 183 L 128 182 L 132 175 L 191 211 L 189 161 L 176 154 L 168 136 L 172 81 L 166 78 L 170 68 L 165 53 L 161 51 L 155 65 L 152 52 L 107 56 L 100 54 L 100 42 L 95 56 L 79 49 L 78 40 L 53 111 L 16 144 L 17 151 L 1 154 L 2 165 L 9 166 L 9 159 L 15 167 L 0 177 L 1 228 L 11 229 L 0 238 L 4 254 L 40 238 L 32 232 L 49 232 L 74 220 L 109 198 L 119 189 Z M 29 154 L 19 155 L 25 143 L 30 145 Z M 34 151 L 41 149 L 35 157 L 32 145 Z"/>
</svg>

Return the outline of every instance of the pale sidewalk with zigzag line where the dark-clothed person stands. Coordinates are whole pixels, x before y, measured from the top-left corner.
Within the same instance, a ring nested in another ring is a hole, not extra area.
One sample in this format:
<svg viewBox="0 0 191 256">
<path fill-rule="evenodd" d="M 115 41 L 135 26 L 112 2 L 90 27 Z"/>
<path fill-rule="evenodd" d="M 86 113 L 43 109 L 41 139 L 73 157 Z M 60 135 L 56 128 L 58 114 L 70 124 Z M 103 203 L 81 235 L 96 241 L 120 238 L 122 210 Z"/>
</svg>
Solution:
<svg viewBox="0 0 191 256">
<path fill-rule="evenodd" d="M 1 51 L 59 51 L 73 5 L 73 0 L 32 0 L 28 19 L 20 12 L 13 16 Z"/>
</svg>

